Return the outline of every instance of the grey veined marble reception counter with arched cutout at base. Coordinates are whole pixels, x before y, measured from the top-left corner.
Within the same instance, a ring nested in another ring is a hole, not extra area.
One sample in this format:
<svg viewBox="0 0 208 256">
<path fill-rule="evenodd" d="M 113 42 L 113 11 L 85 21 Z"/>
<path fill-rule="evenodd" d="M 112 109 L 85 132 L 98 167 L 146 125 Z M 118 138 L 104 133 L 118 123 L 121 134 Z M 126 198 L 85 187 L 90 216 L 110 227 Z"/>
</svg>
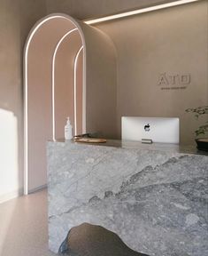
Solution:
<svg viewBox="0 0 208 256">
<path fill-rule="evenodd" d="M 208 254 L 208 156 L 174 145 L 48 142 L 49 244 L 83 222 L 150 256 Z"/>
</svg>

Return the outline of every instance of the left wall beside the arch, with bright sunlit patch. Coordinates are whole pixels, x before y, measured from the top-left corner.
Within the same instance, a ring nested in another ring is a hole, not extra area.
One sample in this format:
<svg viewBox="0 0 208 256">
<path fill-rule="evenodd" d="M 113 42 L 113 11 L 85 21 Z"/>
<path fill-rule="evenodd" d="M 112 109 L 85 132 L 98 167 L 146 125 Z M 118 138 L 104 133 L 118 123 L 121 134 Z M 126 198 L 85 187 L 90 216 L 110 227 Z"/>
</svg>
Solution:
<svg viewBox="0 0 208 256">
<path fill-rule="evenodd" d="M 0 201 L 22 193 L 23 47 L 30 29 L 45 13 L 44 1 L 0 0 L 0 109 L 13 120 L 6 123 L 7 117 L 0 116 L 1 138 L 6 138 L 0 141 Z"/>
</svg>

